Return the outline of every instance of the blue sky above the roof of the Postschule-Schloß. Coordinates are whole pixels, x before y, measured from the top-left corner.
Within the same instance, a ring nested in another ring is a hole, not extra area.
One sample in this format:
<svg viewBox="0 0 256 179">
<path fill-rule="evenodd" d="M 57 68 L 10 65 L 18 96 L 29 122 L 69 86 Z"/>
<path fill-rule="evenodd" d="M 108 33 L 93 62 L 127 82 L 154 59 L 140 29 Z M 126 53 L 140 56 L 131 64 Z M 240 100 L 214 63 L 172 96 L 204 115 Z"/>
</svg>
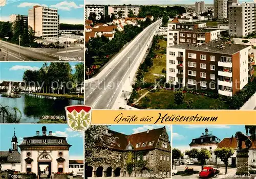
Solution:
<svg viewBox="0 0 256 179">
<path fill-rule="evenodd" d="M 135 133 L 145 132 L 148 129 L 158 129 L 163 126 L 165 126 L 166 132 L 169 136 L 169 140 L 171 141 L 172 125 L 110 125 L 109 127 L 112 131 L 116 131 L 126 135 L 131 135 Z"/>
</svg>

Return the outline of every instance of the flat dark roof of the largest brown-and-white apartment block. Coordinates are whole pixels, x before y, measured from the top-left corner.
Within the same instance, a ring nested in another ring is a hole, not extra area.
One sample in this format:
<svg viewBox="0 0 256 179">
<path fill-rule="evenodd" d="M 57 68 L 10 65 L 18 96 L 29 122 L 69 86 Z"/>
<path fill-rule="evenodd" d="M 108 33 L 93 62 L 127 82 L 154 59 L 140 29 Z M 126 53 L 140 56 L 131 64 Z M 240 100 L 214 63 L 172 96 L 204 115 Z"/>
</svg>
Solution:
<svg viewBox="0 0 256 179">
<path fill-rule="evenodd" d="M 219 40 L 218 42 L 216 42 L 216 40 L 214 40 L 214 41 L 210 41 L 208 43 L 202 43 L 202 45 L 189 44 L 189 46 L 188 46 L 187 44 L 188 43 L 180 43 L 178 45 L 173 45 L 168 48 L 191 49 L 191 50 L 198 50 L 201 52 L 211 52 L 211 53 L 232 55 L 232 54 L 235 54 L 235 53 L 239 52 L 240 50 L 250 46 L 250 45 L 241 45 L 241 44 L 231 44 L 231 46 L 230 46 L 229 44 L 225 43 L 225 41 L 222 41 L 222 40 Z M 221 46 L 221 44 L 223 44 L 223 46 L 225 46 L 224 49 L 220 49 L 218 47 L 218 45 Z"/>
</svg>

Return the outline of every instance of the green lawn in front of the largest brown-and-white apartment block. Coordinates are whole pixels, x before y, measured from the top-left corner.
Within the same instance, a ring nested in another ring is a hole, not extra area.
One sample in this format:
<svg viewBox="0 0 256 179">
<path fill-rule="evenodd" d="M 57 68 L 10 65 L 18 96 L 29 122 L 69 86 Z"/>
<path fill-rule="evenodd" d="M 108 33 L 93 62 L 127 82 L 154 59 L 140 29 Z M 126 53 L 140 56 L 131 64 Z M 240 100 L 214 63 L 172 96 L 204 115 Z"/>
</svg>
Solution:
<svg viewBox="0 0 256 179">
<path fill-rule="evenodd" d="M 145 92 L 144 89 L 143 92 L 139 93 L 142 95 L 142 93 Z M 168 109 L 170 104 L 174 104 L 174 92 L 171 90 L 161 89 L 155 92 L 152 91 L 146 96 L 148 96 L 151 101 L 148 103 L 148 101 L 145 100 L 145 97 L 143 97 L 138 103 L 139 106 L 148 109 Z M 185 100 L 189 98 L 194 100 L 195 109 L 210 109 L 210 106 L 218 104 L 218 101 L 215 98 L 186 93 Z M 186 109 L 186 104 L 179 105 L 177 108 Z M 224 108 L 227 108 L 227 106 L 224 106 Z"/>
</svg>

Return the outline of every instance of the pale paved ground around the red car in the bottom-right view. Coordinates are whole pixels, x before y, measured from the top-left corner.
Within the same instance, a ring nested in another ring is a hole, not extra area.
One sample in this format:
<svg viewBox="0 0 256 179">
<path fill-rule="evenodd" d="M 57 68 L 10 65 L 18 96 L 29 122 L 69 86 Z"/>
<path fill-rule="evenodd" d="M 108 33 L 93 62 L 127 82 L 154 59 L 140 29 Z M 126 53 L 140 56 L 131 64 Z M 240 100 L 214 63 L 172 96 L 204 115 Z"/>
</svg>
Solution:
<svg viewBox="0 0 256 179">
<path fill-rule="evenodd" d="M 211 165 L 207 165 L 209 167 L 213 167 Z M 186 165 L 180 165 L 180 166 L 174 166 L 174 169 L 178 170 L 178 173 L 176 175 L 173 176 L 173 179 L 195 179 L 195 178 L 199 178 L 199 172 L 201 171 L 201 166 L 198 165 L 188 165 L 188 168 L 193 168 L 194 171 L 196 171 L 194 174 L 185 174 L 184 170 L 185 170 Z M 210 177 L 210 178 L 241 178 L 241 177 L 236 177 L 236 168 L 228 168 L 227 169 L 227 175 L 225 175 L 225 168 L 221 167 L 219 168 L 220 173 L 216 176 L 216 177 Z M 182 172 L 182 173 L 181 173 Z M 244 177 L 251 179 L 254 178 L 254 175 L 251 175 L 250 177 Z"/>
</svg>

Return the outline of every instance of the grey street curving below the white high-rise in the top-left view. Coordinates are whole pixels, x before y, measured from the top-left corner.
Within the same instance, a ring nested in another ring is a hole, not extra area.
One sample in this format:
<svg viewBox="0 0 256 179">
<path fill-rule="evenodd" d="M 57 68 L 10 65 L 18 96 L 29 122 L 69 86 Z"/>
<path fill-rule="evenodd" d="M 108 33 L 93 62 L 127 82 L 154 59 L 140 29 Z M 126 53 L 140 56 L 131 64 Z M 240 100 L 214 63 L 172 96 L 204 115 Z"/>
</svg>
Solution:
<svg viewBox="0 0 256 179">
<path fill-rule="evenodd" d="M 30 48 L 12 44 L 0 40 L 0 61 L 77 61 L 76 58 L 84 59 L 82 46 L 68 47 L 66 49 Z M 8 53 L 7 53 L 8 51 Z M 8 55 L 8 58 L 6 56 Z M 74 58 L 71 60 L 59 60 L 59 57 Z"/>
</svg>

